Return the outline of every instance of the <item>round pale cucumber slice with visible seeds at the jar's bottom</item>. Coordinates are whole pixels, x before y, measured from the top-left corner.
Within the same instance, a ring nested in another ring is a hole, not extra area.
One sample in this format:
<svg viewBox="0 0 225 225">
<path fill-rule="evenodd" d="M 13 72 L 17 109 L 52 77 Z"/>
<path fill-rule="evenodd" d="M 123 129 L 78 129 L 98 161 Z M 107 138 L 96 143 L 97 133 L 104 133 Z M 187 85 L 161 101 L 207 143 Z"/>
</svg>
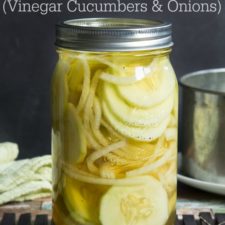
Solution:
<svg viewBox="0 0 225 225">
<path fill-rule="evenodd" d="M 168 219 L 168 198 L 159 181 L 146 177 L 134 186 L 113 186 L 102 197 L 102 225 L 164 225 Z"/>
</svg>

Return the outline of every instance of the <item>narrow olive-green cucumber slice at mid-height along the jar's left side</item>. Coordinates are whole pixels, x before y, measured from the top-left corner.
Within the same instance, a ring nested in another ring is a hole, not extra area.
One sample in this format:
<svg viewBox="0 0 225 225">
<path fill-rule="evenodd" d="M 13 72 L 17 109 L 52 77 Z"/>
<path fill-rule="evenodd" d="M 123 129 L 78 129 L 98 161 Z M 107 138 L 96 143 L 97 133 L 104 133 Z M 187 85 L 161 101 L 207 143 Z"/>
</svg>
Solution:
<svg viewBox="0 0 225 225">
<path fill-rule="evenodd" d="M 73 104 L 68 103 L 64 115 L 64 155 L 70 164 L 82 162 L 87 154 L 87 143 L 82 122 Z"/>
</svg>

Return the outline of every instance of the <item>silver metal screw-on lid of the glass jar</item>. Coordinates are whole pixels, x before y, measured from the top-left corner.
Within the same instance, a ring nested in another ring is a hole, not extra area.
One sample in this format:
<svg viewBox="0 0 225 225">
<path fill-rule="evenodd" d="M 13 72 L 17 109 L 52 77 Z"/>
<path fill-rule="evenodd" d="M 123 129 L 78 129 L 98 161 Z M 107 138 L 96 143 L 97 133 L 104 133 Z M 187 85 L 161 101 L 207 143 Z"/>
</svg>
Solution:
<svg viewBox="0 0 225 225">
<path fill-rule="evenodd" d="M 136 51 L 169 48 L 172 25 L 124 18 L 74 19 L 56 26 L 56 46 L 81 51 Z"/>
</svg>

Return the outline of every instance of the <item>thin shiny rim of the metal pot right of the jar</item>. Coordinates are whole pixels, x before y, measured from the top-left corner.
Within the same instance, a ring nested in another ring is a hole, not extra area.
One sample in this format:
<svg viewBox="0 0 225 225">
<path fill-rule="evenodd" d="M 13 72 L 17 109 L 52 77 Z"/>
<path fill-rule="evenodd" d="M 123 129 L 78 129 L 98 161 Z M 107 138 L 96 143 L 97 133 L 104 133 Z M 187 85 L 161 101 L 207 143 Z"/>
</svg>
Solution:
<svg viewBox="0 0 225 225">
<path fill-rule="evenodd" d="M 185 80 L 194 77 L 194 76 L 199 76 L 199 75 L 204 75 L 206 73 L 225 73 L 225 68 L 215 68 L 215 69 L 206 69 L 206 70 L 199 70 L 191 73 L 187 73 L 183 75 L 181 78 L 179 78 L 178 83 L 180 86 L 184 88 L 191 89 L 193 91 L 199 91 L 199 92 L 204 92 L 204 93 L 209 93 L 209 94 L 215 94 L 215 95 L 225 95 L 225 92 L 222 91 L 212 91 L 204 88 L 198 88 L 194 87 L 188 84 L 185 84 Z"/>
</svg>

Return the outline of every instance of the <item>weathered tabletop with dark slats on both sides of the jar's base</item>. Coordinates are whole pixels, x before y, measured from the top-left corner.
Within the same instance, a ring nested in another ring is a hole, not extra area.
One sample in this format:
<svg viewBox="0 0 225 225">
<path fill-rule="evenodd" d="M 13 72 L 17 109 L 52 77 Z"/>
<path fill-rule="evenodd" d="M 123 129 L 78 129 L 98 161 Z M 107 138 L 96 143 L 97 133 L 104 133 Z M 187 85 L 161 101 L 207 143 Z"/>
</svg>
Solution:
<svg viewBox="0 0 225 225">
<path fill-rule="evenodd" d="M 196 204 L 199 207 L 194 207 Z M 1 220 L 0 225 L 29 225 L 30 221 L 34 225 L 50 224 L 51 199 L 3 205 L 0 207 Z M 179 184 L 176 224 L 225 225 L 225 198 Z"/>
</svg>

